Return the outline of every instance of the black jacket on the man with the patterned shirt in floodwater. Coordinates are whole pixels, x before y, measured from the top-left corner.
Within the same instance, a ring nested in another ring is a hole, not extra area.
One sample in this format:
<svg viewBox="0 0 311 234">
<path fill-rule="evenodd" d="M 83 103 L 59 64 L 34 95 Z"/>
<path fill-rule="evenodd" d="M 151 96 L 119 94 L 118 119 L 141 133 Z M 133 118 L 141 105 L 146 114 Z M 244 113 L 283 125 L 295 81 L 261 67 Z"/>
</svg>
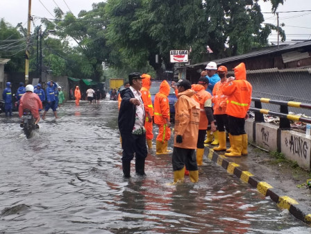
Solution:
<svg viewBox="0 0 311 234">
<path fill-rule="evenodd" d="M 135 98 L 132 90 L 128 87 L 120 92 L 121 105 L 118 116 L 118 126 L 121 134 L 132 133 L 135 124 L 136 106 L 130 103 Z"/>
</svg>

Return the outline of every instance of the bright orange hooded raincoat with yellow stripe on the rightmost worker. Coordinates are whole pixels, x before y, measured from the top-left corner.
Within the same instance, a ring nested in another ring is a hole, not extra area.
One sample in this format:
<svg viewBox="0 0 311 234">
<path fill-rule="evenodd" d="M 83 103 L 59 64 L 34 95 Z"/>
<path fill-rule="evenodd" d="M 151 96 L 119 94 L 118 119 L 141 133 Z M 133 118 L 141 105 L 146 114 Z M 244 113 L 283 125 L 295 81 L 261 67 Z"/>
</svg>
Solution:
<svg viewBox="0 0 311 234">
<path fill-rule="evenodd" d="M 223 94 L 228 96 L 226 114 L 244 118 L 251 106 L 252 86 L 246 81 L 246 69 L 244 62 L 234 68 L 235 80 L 225 83 Z"/>
</svg>

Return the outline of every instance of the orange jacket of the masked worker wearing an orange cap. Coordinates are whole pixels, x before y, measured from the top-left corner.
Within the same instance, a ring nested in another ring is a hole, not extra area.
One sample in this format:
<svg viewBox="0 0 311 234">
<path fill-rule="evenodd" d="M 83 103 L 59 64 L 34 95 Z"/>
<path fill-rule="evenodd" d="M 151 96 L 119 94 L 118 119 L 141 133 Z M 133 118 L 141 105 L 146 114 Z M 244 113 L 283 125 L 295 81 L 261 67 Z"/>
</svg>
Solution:
<svg viewBox="0 0 311 234">
<path fill-rule="evenodd" d="M 224 89 L 226 81 L 221 83 L 218 81 L 213 90 L 212 90 L 212 102 L 214 103 L 214 115 L 224 115 L 226 114 L 227 106 L 227 96 L 223 94 L 222 90 Z M 219 110 L 221 107 L 221 110 Z"/>
</svg>

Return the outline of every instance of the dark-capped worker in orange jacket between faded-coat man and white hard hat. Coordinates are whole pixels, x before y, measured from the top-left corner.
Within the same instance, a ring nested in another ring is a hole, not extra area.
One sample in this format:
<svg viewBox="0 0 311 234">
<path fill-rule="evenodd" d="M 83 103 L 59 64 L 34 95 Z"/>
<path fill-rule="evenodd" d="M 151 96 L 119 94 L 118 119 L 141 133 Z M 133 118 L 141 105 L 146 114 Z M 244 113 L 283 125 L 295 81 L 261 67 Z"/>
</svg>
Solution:
<svg viewBox="0 0 311 234">
<path fill-rule="evenodd" d="M 196 162 L 198 166 L 203 165 L 204 140 L 208 124 L 210 123 L 211 131 L 216 130 L 215 120 L 212 115 L 212 95 L 206 91 L 208 79 L 205 76 L 199 78 L 198 84 L 192 85 L 192 90 L 196 92 L 194 99 L 200 104 L 200 122 L 199 135 L 196 144 Z"/>
</svg>

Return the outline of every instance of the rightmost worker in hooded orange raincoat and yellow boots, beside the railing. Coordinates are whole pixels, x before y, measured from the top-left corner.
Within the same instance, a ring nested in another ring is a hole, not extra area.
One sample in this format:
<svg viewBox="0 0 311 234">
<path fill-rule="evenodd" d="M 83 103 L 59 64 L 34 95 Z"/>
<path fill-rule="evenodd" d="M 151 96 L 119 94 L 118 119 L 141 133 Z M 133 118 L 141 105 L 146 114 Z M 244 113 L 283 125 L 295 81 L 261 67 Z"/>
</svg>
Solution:
<svg viewBox="0 0 311 234">
<path fill-rule="evenodd" d="M 247 154 L 248 137 L 245 133 L 245 119 L 251 106 L 252 86 L 246 81 L 246 68 L 241 62 L 234 68 L 235 78 L 228 78 L 223 94 L 228 96 L 226 114 L 228 115 L 229 133 L 232 137 L 231 152 L 225 156 L 241 156 Z"/>
</svg>

